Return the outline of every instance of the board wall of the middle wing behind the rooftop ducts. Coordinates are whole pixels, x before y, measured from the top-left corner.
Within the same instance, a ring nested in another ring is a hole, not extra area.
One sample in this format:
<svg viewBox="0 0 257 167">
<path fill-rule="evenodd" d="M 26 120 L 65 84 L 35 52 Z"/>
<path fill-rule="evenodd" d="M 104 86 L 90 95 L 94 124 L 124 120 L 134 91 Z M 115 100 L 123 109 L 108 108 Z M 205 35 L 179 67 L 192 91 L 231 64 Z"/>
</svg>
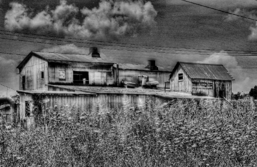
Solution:
<svg viewBox="0 0 257 167">
<path fill-rule="evenodd" d="M 114 73 L 117 73 L 116 69 Z M 170 72 L 164 71 L 140 71 L 140 70 L 123 70 L 119 69 L 118 72 L 118 86 L 121 86 L 121 81 L 131 81 L 138 84 L 138 76 L 148 76 L 148 81 L 158 81 L 160 84 L 157 88 L 164 88 L 165 82 L 169 80 Z M 116 76 L 115 76 L 116 81 Z M 166 88 L 169 89 L 169 84 L 166 84 Z"/>
</svg>

